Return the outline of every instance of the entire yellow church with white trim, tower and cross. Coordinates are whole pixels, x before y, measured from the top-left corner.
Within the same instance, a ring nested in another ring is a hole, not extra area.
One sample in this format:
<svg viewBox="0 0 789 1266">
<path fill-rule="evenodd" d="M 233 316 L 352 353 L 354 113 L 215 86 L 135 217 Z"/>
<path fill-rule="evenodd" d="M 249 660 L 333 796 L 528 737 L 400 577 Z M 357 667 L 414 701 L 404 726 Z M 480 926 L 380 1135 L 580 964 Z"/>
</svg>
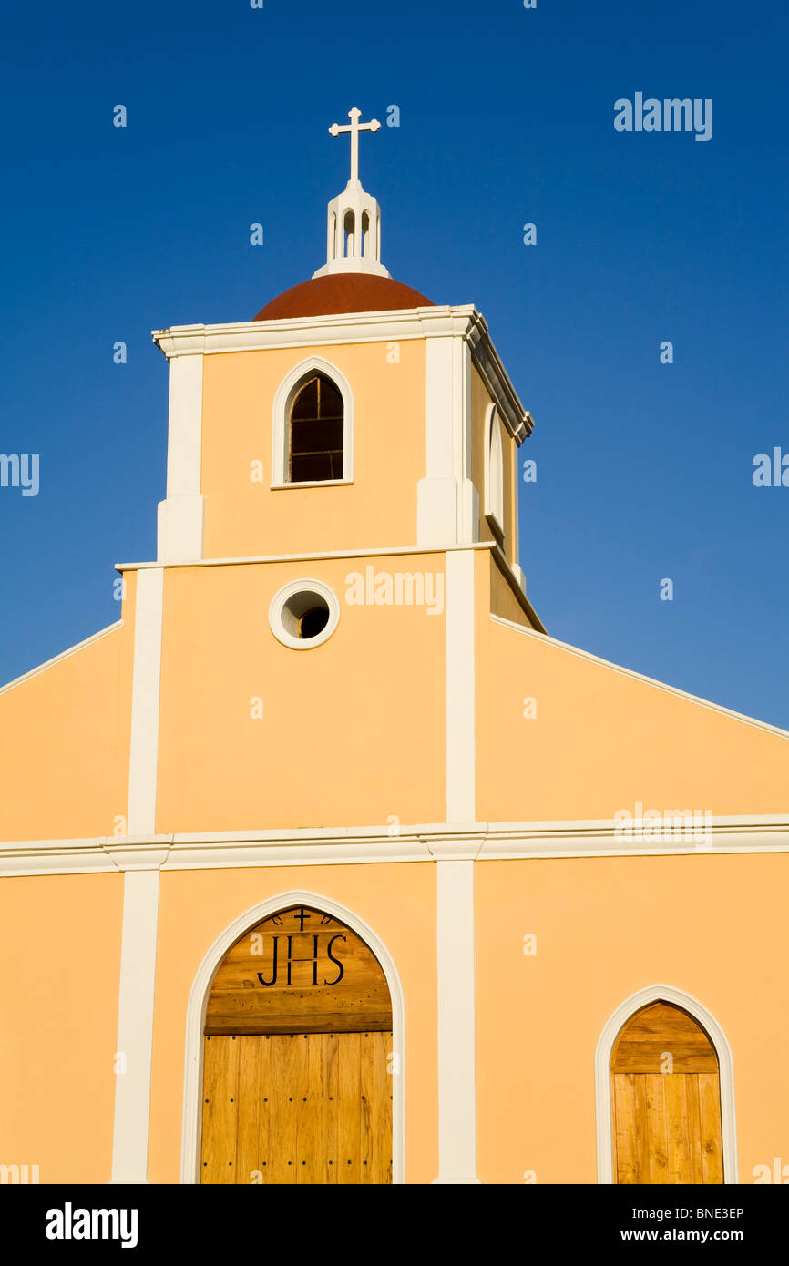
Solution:
<svg viewBox="0 0 789 1266">
<path fill-rule="evenodd" d="M 327 263 L 153 334 L 120 619 L 0 690 L 4 1172 L 786 1180 L 789 734 L 546 632 L 533 419 L 358 119 Z"/>
</svg>

